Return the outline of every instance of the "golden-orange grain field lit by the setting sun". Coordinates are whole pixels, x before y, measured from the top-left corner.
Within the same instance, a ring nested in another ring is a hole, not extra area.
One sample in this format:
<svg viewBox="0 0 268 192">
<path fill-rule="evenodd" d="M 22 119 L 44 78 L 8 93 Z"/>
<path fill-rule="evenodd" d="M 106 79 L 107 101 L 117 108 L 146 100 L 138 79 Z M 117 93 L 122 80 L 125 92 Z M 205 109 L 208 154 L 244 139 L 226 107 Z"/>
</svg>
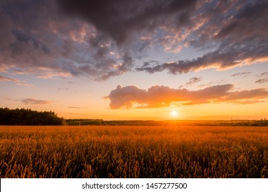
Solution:
<svg viewBox="0 0 268 192">
<path fill-rule="evenodd" d="M 268 178 L 268 128 L 0 126 L 0 178 Z"/>
</svg>

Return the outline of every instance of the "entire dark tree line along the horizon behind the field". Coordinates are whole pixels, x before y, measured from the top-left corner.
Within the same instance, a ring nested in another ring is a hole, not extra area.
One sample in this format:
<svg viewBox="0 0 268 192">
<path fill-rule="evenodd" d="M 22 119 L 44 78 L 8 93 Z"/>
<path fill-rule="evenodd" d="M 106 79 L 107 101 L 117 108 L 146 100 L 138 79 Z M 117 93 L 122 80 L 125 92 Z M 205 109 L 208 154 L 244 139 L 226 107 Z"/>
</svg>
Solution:
<svg viewBox="0 0 268 192">
<path fill-rule="evenodd" d="M 179 123 L 178 121 L 177 123 Z M 177 124 L 176 123 L 176 124 Z M 186 123 L 183 121 L 183 123 Z M 230 121 L 227 123 L 199 123 L 189 121 L 190 125 L 230 125 L 230 126 L 268 126 L 267 119 Z M 104 121 L 103 119 L 64 119 L 55 112 L 25 109 L 0 108 L 0 125 L 170 125 L 170 121 Z"/>
</svg>

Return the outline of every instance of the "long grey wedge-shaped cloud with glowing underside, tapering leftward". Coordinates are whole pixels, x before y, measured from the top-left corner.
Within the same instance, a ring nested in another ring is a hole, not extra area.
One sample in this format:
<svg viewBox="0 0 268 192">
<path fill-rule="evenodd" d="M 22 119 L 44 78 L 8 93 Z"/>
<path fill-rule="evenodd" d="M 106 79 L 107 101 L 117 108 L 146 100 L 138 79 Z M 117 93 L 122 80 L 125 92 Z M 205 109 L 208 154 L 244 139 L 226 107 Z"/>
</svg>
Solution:
<svg viewBox="0 0 268 192">
<path fill-rule="evenodd" d="M 190 71 L 199 71 L 202 69 L 216 68 L 219 70 L 230 69 L 233 67 L 242 66 L 245 64 L 253 64 L 259 60 L 265 59 L 268 56 L 267 43 L 248 43 L 250 47 L 236 49 L 228 47 L 228 49 L 218 49 L 204 56 L 193 60 L 179 60 L 179 62 L 168 62 L 155 66 L 137 67 L 137 71 L 147 71 L 155 73 L 168 70 L 172 74 L 188 73 Z M 257 47 L 256 45 L 259 45 Z M 255 48 L 254 50 L 252 50 Z"/>
</svg>

